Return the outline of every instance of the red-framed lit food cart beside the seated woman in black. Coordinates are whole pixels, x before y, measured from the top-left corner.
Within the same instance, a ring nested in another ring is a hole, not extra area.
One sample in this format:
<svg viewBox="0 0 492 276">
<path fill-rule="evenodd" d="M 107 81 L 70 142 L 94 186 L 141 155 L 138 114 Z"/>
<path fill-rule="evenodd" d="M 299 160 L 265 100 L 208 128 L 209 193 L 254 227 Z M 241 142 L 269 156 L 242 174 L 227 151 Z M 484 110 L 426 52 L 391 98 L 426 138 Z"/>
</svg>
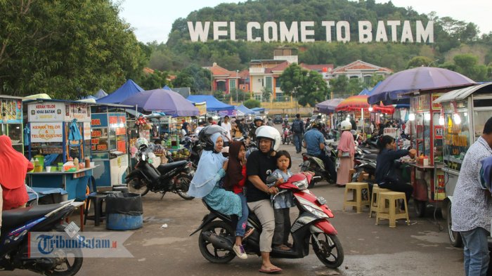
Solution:
<svg viewBox="0 0 492 276">
<path fill-rule="evenodd" d="M 441 202 L 444 194 L 443 130 L 439 124 L 441 105 L 434 100 L 446 91 L 420 91 L 411 93 L 410 114 L 411 145 L 417 150 L 416 162 L 410 163 L 410 182 L 413 185 L 415 213 L 424 216 L 427 202 Z"/>
</svg>

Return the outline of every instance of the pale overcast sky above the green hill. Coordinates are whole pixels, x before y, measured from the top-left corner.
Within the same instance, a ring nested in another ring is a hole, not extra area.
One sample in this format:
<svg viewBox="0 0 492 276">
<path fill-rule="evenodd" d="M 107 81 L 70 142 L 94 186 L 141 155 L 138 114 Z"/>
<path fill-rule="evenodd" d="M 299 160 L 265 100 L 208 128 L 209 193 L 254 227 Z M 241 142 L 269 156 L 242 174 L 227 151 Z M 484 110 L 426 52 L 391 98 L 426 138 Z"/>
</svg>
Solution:
<svg viewBox="0 0 492 276">
<path fill-rule="evenodd" d="M 121 16 L 134 27 L 139 41 L 165 42 L 171 31 L 172 23 L 178 18 L 186 18 L 192 12 L 204 7 L 214 7 L 221 3 L 238 3 L 234 0 L 122 0 Z M 376 0 L 377 3 L 386 3 L 387 0 Z M 490 11 L 491 0 L 393 0 L 394 6 L 406 8 L 412 6 L 418 13 L 435 11 L 437 16 L 451 16 L 457 20 L 474 22 L 482 33 L 492 32 Z M 365 18 L 361 18 L 364 20 Z M 327 18 L 329 20 L 329 18 Z"/>
</svg>

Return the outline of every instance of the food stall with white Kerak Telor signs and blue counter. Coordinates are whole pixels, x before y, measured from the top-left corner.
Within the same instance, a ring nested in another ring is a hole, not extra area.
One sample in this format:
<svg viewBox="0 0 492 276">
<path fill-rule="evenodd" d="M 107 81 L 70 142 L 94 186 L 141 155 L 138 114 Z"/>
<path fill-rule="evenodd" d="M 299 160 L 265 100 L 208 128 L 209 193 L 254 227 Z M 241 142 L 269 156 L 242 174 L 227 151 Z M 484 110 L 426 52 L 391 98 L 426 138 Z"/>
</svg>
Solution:
<svg viewBox="0 0 492 276">
<path fill-rule="evenodd" d="M 34 172 L 27 173 L 30 185 L 63 188 L 68 199 L 84 198 L 93 170 L 93 166 L 84 164 L 84 158 L 91 153 L 90 104 L 51 99 L 24 103 L 30 133 L 27 155 L 29 159 L 34 157 L 38 165 Z M 78 166 L 76 158 L 80 160 Z M 73 164 L 67 165 L 72 159 Z"/>
</svg>

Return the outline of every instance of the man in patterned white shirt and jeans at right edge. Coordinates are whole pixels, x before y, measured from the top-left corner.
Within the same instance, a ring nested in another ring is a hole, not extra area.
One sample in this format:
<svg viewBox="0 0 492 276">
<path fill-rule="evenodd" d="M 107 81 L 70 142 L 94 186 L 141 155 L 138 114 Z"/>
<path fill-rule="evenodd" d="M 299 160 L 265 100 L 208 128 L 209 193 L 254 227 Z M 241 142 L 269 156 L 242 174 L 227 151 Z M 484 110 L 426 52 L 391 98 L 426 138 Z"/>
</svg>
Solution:
<svg viewBox="0 0 492 276">
<path fill-rule="evenodd" d="M 466 276 L 486 275 L 490 261 L 487 237 L 491 232 L 492 198 L 481 188 L 480 162 L 492 156 L 491 147 L 492 117 L 481 137 L 468 149 L 453 193 L 451 229 L 460 232 L 463 239 Z"/>
</svg>

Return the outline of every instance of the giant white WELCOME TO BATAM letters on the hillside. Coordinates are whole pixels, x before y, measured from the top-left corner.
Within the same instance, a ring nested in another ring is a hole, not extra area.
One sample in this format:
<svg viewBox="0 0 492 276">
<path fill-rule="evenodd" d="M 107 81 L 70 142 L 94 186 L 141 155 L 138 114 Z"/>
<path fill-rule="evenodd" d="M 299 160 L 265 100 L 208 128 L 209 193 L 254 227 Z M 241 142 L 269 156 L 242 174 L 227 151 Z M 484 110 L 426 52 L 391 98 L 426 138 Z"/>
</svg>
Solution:
<svg viewBox="0 0 492 276">
<path fill-rule="evenodd" d="M 191 41 L 207 41 L 210 27 L 214 40 L 247 40 L 265 42 L 313 42 L 315 24 L 325 27 L 325 41 L 349 42 L 356 38 L 351 37 L 350 30 L 358 29 L 358 42 L 409 42 L 409 43 L 434 43 L 434 21 L 429 20 L 424 27 L 422 21 L 417 20 L 410 24 L 409 20 L 387 20 L 377 21 L 373 26 L 370 21 L 358 21 L 357 26 L 351 26 L 348 21 L 293 21 L 290 26 L 280 22 L 247 22 L 246 36 L 235 36 L 235 22 L 188 22 L 188 31 Z M 262 35 L 261 35 L 262 34 Z M 332 36 L 332 34 L 334 34 Z"/>
</svg>

